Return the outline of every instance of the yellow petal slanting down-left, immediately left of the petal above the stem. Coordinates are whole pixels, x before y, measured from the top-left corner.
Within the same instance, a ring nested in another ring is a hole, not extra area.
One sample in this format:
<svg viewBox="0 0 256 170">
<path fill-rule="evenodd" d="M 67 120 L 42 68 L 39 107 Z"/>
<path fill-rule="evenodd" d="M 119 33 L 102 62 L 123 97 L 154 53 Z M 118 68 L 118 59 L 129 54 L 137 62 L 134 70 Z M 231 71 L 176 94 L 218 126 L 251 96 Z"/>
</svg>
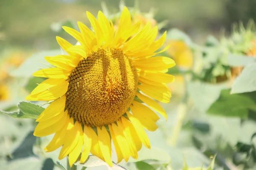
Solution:
<svg viewBox="0 0 256 170">
<path fill-rule="evenodd" d="M 68 132 L 66 141 L 64 142 L 60 154 L 58 156 L 59 160 L 66 157 L 76 147 L 76 144 L 78 143 L 78 139 L 80 136 L 79 126 L 81 126 L 81 124 L 78 121 L 76 121 L 73 128 L 71 128 Z"/>
</svg>

